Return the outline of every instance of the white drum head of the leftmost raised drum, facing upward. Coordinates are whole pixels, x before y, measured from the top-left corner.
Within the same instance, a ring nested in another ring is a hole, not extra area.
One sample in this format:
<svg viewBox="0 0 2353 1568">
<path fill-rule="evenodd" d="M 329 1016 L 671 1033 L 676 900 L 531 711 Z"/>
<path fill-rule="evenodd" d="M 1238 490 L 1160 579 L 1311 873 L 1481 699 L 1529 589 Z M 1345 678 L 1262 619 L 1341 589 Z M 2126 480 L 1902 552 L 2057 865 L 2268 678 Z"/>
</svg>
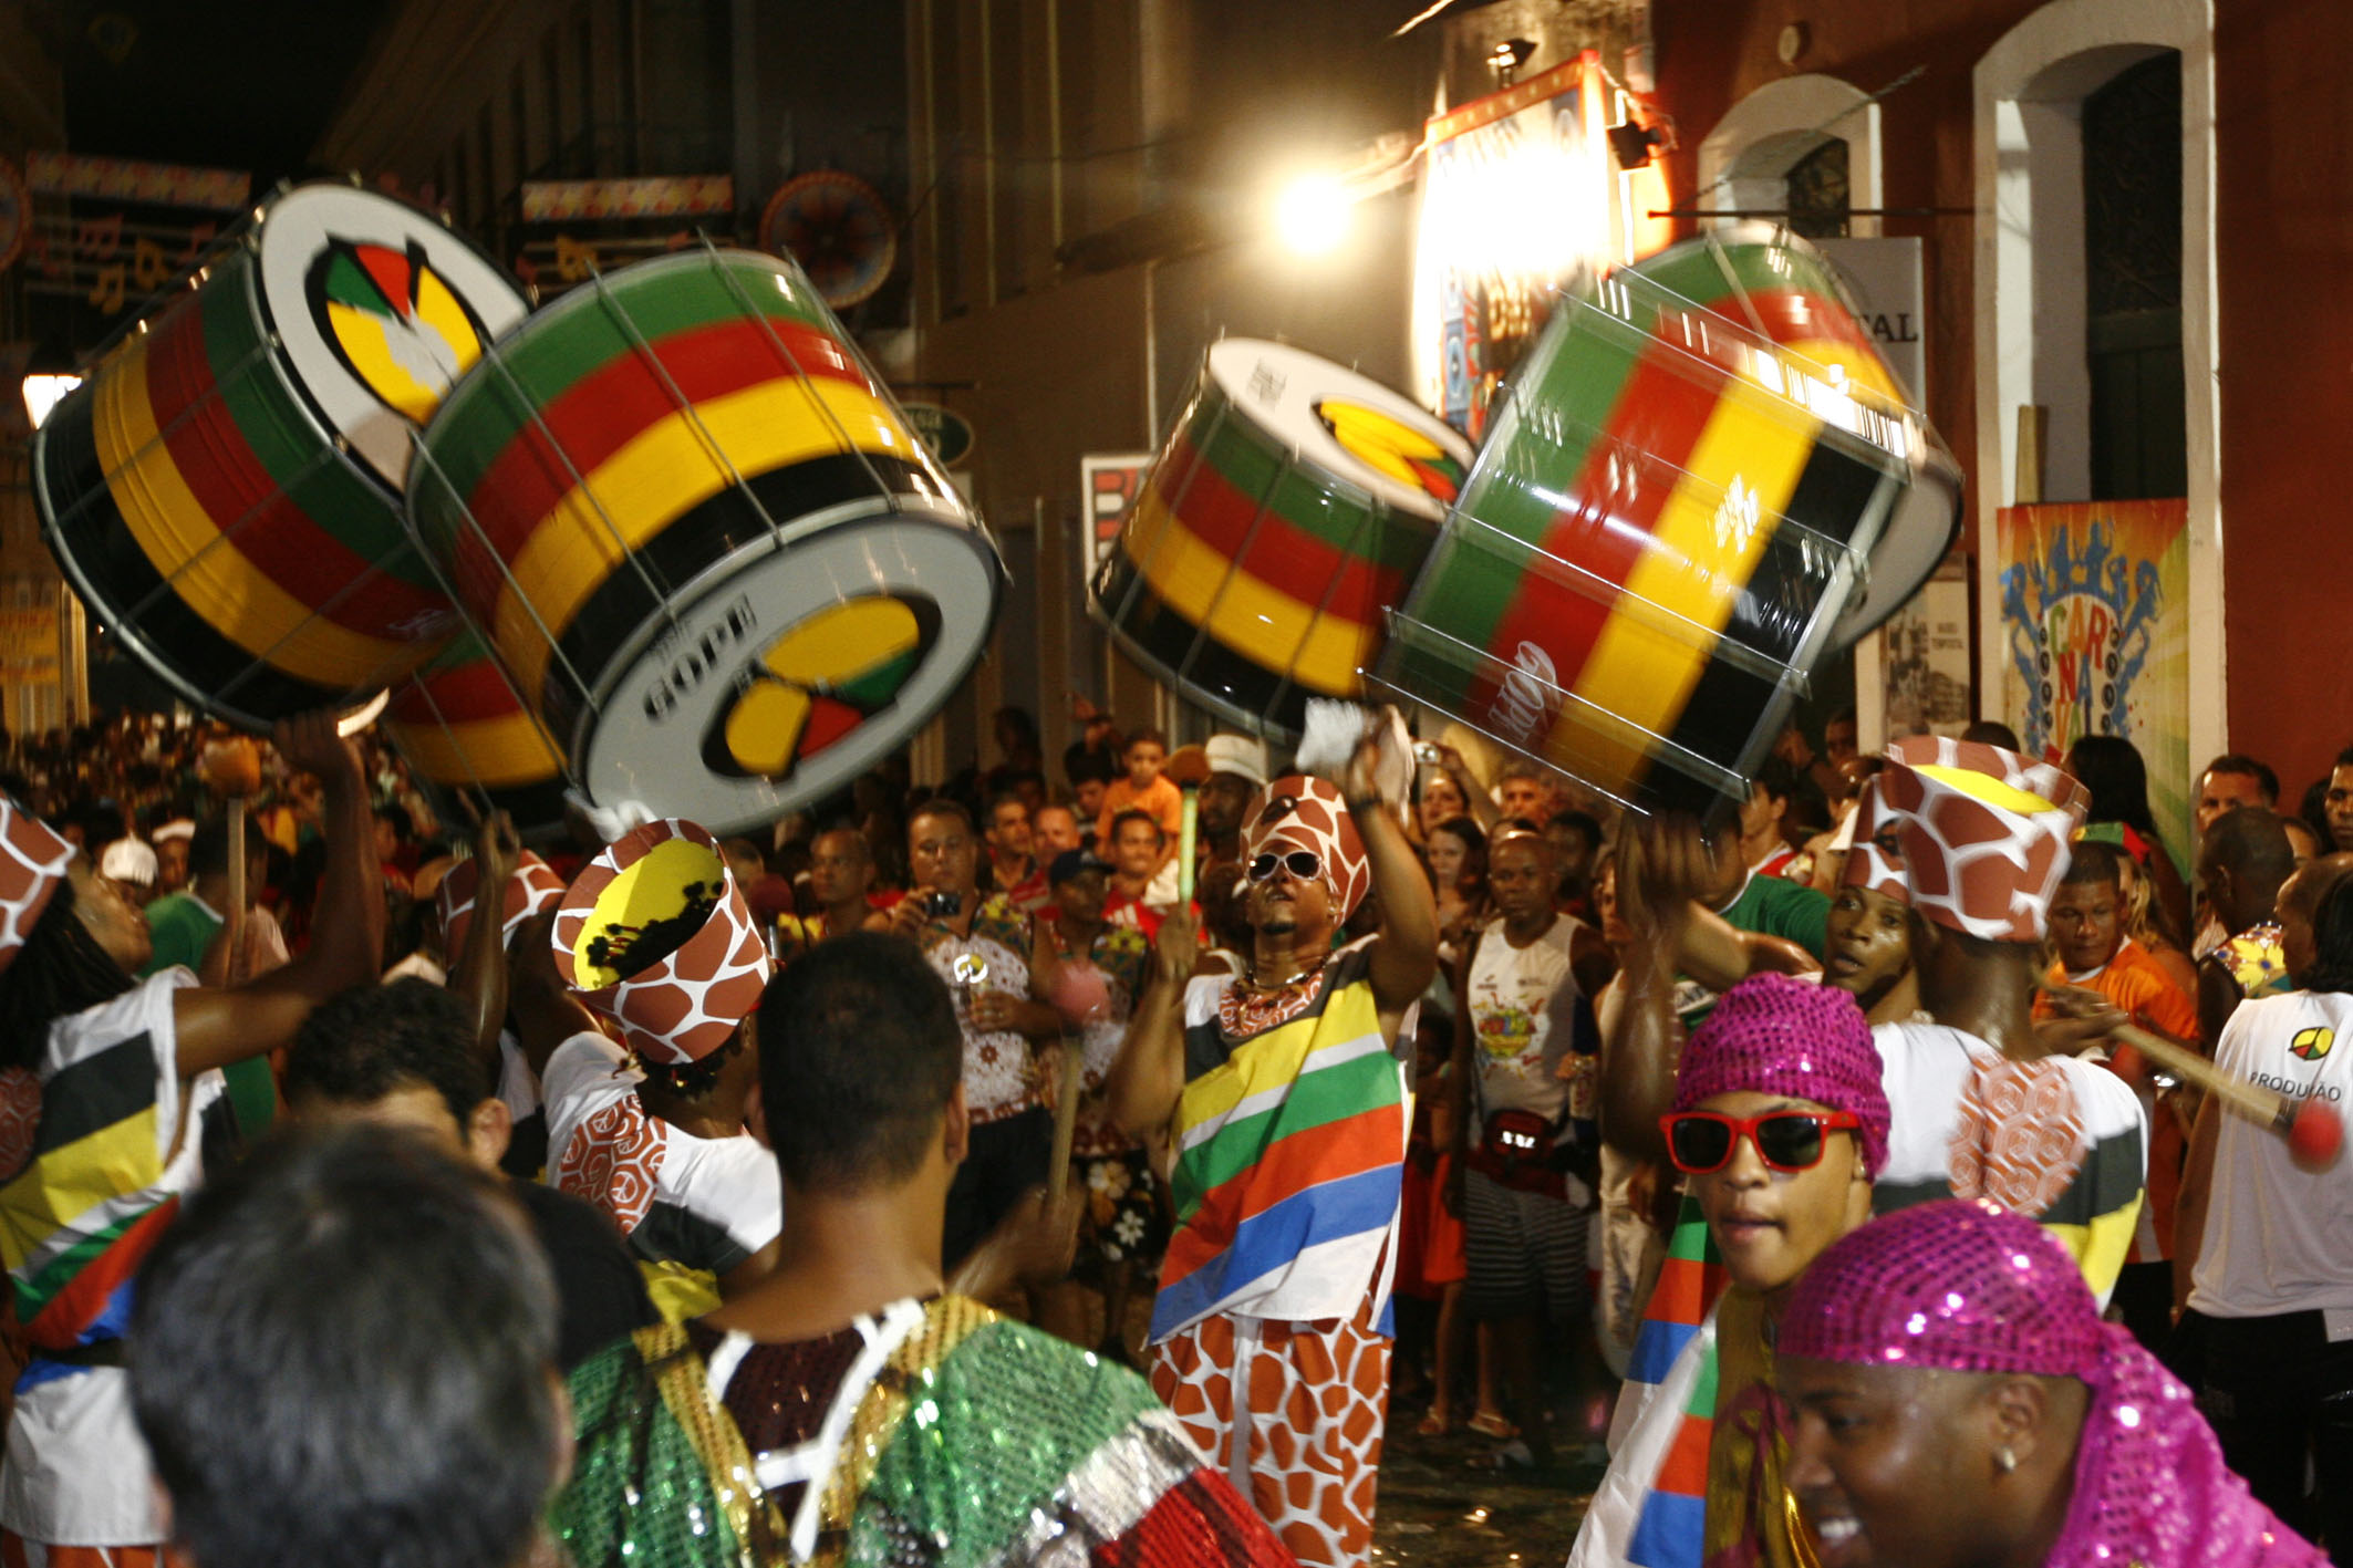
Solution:
<svg viewBox="0 0 2353 1568">
<path fill-rule="evenodd" d="M 353 186 L 304 186 L 261 214 L 261 306 L 287 378 L 395 491 L 409 433 L 522 322 L 522 292 L 426 214 Z"/>
</svg>

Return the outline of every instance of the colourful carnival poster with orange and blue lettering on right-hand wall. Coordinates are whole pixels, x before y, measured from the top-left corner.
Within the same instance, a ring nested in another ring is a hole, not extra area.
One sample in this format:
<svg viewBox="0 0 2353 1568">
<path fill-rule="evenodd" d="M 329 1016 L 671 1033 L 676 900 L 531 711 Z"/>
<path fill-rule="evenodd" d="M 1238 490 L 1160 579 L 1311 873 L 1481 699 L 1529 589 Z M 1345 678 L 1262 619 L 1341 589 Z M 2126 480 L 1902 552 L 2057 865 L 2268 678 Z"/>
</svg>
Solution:
<svg viewBox="0 0 2353 1568">
<path fill-rule="evenodd" d="M 2005 505 L 1995 515 L 2002 712 L 2026 750 L 2125 736 L 2167 849 L 2191 842 L 2188 501 Z"/>
</svg>

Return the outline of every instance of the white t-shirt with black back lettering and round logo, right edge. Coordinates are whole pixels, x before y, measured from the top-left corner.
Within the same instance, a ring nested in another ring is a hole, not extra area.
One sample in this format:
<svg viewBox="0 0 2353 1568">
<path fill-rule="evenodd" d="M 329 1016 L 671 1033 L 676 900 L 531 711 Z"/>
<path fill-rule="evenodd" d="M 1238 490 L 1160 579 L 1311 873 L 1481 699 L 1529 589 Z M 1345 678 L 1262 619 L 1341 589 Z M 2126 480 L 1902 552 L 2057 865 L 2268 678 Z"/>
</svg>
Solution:
<svg viewBox="0 0 2353 1568">
<path fill-rule="evenodd" d="M 2344 1107 L 2353 1091 L 2353 997 L 2240 1001 L 2214 1065 L 2292 1100 L 2320 1095 Z M 2191 1307 L 2207 1316 L 2353 1309 L 2353 1161 L 2299 1171 L 2275 1133 L 2221 1117 Z"/>
</svg>

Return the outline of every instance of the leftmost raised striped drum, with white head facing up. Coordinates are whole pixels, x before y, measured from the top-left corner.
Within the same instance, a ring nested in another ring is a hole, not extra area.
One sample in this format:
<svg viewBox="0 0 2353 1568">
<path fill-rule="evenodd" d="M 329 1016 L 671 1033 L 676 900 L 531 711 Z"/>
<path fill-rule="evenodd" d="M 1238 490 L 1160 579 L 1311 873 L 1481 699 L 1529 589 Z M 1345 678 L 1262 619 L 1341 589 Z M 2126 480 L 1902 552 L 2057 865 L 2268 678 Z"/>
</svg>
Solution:
<svg viewBox="0 0 2353 1568">
<path fill-rule="evenodd" d="M 358 703 L 456 628 L 400 522 L 409 437 L 522 315 L 412 207 L 292 190 L 52 411 L 33 447 L 49 550 L 209 712 L 266 729 Z"/>
</svg>

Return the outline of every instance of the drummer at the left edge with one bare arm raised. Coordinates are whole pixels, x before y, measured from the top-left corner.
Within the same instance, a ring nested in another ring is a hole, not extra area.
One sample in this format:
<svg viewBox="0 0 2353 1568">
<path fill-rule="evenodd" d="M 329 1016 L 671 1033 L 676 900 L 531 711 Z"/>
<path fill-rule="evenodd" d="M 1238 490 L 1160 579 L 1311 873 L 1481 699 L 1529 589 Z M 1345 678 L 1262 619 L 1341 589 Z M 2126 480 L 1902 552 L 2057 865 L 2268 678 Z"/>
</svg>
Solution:
<svg viewBox="0 0 2353 1568">
<path fill-rule="evenodd" d="M 169 1535 L 132 1425 L 132 1279 L 233 1119 L 221 1070 L 289 1046 L 320 1001 L 369 985 L 384 898 L 367 780 L 334 715 L 278 726 L 325 783 L 327 867 L 301 957 L 233 987 L 148 980 L 148 929 L 87 858 L 0 799 L 0 1237 L 31 1366 L 0 1467 L 0 1556 L 155 1563 Z"/>
</svg>

